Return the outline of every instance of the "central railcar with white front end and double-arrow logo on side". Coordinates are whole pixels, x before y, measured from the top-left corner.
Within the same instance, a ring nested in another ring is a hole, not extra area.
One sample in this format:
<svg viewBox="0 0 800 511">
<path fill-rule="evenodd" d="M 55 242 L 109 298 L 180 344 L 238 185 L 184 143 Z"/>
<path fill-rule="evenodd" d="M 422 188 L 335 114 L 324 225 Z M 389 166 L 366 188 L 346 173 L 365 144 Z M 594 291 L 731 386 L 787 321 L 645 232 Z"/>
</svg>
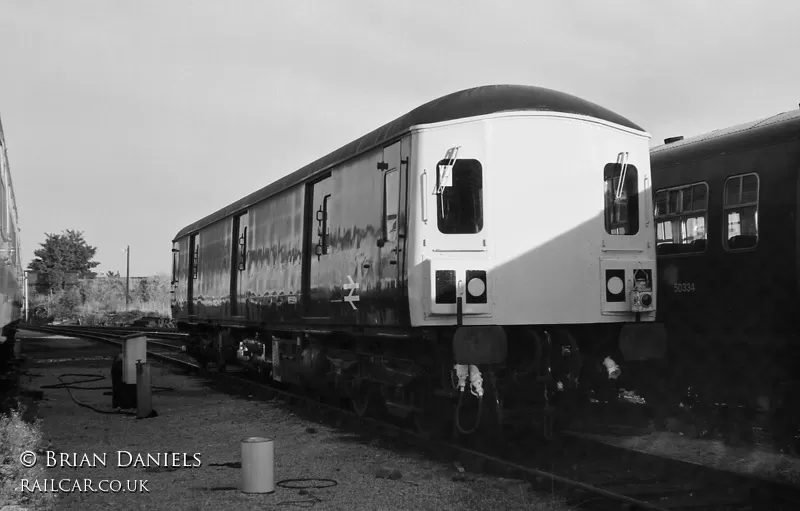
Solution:
<svg viewBox="0 0 800 511">
<path fill-rule="evenodd" d="M 444 96 L 178 232 L 173 317 L 204 362 L 422 431 L 549 407 L 665 352 L 648 141 L 553 90 Z"/>
</svg>

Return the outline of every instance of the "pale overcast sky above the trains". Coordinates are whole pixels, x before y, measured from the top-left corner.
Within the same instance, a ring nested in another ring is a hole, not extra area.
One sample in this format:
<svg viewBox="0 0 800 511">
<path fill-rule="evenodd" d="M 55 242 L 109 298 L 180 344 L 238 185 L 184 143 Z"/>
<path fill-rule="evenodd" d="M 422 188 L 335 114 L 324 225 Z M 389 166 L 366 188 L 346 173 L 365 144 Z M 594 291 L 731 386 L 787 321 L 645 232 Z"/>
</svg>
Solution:
<svg viewBox="0 0 800 511">
<path fill-rule="evenodd" d="M 169 272 L 189 223 L 437 97 L 600 104 L 651 145 L 798 108 L 799 2 L 0 0 L 23 264 L 83 231 Z"/>
</svg>

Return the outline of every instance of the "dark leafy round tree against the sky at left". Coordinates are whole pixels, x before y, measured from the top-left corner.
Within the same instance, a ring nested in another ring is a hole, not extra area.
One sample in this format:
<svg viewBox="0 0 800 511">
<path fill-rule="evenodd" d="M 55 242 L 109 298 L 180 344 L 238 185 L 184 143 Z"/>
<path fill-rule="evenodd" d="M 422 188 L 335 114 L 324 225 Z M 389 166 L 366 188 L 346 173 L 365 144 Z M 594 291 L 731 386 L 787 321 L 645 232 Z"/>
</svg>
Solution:
<svg viewBox="0 0 800 511">
<path fill-rule="evenodd" d="M 61 234 L 45 233 L 46 239 L 33 255 L 36 259 L 28 264 L 28 269 L 49 276 L 50 286 L 63 289 L 66 274 L 76 272 L 78 278 L 92 274 L 91 269 L 100 263 L 92 261 L 97 247 L 92 247 L 83 239 L 82 231 L 66 230 Z"/>
</svg>

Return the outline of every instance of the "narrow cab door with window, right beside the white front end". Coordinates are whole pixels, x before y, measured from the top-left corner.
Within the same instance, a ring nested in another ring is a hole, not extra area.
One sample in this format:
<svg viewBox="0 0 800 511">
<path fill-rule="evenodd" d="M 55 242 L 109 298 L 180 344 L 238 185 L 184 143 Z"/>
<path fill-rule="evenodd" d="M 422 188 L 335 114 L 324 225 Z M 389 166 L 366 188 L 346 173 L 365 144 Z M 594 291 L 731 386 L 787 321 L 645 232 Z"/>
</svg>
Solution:
<svg viewBox="0 0 800 511">
<path fill-rule="evenodd" d="M 401 294 L 399 282 L 402 280 L 403 248 L 405 241 L 405 207 L 401 197 L 405 196 L 407 169 L 401 164 L 400 142 L 383 149 L 383 234 L 380 247 L 380 281 L 383 298 L 396 299 Z M 388 319 L 388 318 L 387 318 Z"/>
</svg>

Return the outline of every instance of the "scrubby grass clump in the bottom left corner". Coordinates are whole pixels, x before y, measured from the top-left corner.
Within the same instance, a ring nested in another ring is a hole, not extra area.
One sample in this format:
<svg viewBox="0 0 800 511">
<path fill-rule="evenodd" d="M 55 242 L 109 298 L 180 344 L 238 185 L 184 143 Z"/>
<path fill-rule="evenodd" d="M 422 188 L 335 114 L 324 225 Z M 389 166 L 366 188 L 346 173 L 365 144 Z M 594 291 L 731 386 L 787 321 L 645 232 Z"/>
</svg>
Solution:
<svg viewBox="0 0 800 511">
<path fill-rule="evenodd" d="M 37 464 L 26 468 L 20 463 L 25 451 L 41 454 L 46 448 L 42 439 L 41 420 L 33 424 L 22 418 L 24 409 L 12 410 L 9 415 L 0 415 L 0 509 L 4 506 L 23 506 L 34 509 L 53 509 L 55 494 L 50 492 L 22 492 L 22 480 L 30 481 L 29 487 L 46 478 L 44 466 Z"/>
</svg>

